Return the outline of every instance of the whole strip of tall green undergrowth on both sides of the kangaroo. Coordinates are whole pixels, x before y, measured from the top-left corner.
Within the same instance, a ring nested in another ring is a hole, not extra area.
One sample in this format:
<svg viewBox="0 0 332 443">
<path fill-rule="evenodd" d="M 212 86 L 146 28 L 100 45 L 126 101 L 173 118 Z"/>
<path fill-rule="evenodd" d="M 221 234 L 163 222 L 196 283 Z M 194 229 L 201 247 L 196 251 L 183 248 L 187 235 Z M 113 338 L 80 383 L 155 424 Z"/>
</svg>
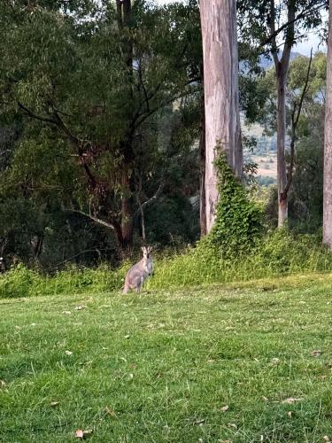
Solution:
<svg viewBox="0 0 332 443">
<path fill-rule="evenodd" d="M 110 269 L 70 268 L 45 276 L 23 265 L 0 276 L 0 298 L 120 291 L 129 264 Z M 173 256 L 155 258 L 146 289 L 230 283 L 306 272 L 332 272 L 332 253 L 320 236 L 277 229 L 259 239 L 245 255 L 212 253 L 204 242 Z"/>
</svg>

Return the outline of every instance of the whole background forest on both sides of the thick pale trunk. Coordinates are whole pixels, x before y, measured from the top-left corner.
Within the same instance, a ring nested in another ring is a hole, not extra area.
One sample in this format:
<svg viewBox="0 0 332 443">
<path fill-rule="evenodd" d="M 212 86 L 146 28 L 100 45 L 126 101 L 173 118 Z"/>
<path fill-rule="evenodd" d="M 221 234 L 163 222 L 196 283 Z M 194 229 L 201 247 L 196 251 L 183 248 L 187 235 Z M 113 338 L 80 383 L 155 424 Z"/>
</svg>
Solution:
<svg viewBox="0 0 332 443">
<path fill-rule="evenodd" d="M 274 56 L 271 39 L 262 41 L 269 12 L 264 2 L 237 7 L 245 192 L 259 202 L 267 232 L 276 227 L 278 209 Z M 303 16 L 292 45 L 305 30 L 324 33 L 323 2 L 294 7 Z M 6 267 L 22 262 L 52 273 L 71 263 L 117 265 L 144 243 L 159 253 L 194 245 L 205 233 L 197 1 L 136 0 L 126 7 L 8 0 L 0 8 L 0 256 Z M 280 21 L 286 10 L 286 3 L 277 4 Z M 287 37 L 281 28 L 278 44 Z M 326 54 L 290 51 L 291 236 L 320 236 L 325 91 Z"/>
</svg>

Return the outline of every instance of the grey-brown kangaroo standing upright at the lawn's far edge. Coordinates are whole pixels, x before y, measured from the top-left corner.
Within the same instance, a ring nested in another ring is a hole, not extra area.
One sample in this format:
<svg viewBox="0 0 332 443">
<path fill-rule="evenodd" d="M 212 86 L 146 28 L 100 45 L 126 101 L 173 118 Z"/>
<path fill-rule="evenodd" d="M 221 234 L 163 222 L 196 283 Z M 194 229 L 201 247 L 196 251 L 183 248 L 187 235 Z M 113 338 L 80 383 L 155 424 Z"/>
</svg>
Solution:
<svg viewBox="0 0 332 443">
<path fill-rule="evenodd" d="M 148 276 L 151 276 L 153 273 L 151 246 L 149 246 L 148 248 L 143 246 L 142 251 L 143 259 L 127 271 L 125 287 L 123 289 L 124 294 L 127 294 L 127 292 L 131 289 L 135 289 L 136 292 L 141 291 L 143 283 L 148 278 Z"/>
</svg>

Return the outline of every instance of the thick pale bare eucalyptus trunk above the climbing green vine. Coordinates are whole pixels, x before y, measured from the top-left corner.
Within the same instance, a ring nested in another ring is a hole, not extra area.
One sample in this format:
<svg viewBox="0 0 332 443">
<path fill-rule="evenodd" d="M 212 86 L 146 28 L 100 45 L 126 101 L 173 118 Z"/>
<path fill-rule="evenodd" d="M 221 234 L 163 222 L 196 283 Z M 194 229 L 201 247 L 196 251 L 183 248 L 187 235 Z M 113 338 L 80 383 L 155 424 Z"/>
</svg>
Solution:
<svg viewBox="0 0 332 443">
<path fill-rule="evenodd" d="M 213 161 L 218 150 L 241 177 L 243 152 L 238 105 L 235 0 L 200 0 L 205 87 L 205 215 L 210 232 L 218 201 Z"/>
</svg>

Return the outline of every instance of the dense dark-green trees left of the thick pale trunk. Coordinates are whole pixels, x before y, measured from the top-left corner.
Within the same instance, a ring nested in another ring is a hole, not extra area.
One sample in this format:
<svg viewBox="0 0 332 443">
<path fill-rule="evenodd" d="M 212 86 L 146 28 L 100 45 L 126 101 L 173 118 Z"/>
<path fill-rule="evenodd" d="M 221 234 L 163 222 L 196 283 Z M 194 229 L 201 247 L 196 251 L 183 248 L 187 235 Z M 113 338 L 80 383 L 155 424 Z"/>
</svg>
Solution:
<svg viewBox="0 0 332 443">
<path fill-rule="evenodd" d="M 160 245 L 197 239 L 197 4 L 137 1 L 120 16 L 112 1 L 0 8 L 7 260 L 114 261 L 143 230 Z M 156 217 L 167 223 L 154 228 Z"/>
</svg>

